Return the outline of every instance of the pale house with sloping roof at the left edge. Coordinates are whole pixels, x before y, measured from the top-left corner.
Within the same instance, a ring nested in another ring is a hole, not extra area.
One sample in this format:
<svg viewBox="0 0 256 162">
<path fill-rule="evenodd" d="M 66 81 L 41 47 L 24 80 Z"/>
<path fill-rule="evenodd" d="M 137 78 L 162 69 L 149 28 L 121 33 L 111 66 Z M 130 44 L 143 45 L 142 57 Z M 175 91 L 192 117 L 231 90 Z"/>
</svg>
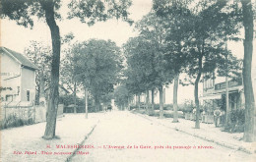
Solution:
<svg viewBox="0 0 256 162">
<path fill-rule="evenodd" d="M 5 104 L 32 104 L 35 99 L 35 70 L 24 55 L 6 47 L 1 54 L 1 102 Z"/>
</svg>

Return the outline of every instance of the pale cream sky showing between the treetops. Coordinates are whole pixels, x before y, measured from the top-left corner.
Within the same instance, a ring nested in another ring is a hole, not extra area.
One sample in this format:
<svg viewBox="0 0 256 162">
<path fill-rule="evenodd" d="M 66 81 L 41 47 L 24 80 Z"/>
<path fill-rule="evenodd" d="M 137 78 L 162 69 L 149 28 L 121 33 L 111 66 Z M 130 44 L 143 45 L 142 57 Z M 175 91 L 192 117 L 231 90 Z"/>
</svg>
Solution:
<svg viewBox="0 0 256 162">
<path fill-rule="evenodd" d="M 69 11 L 67 8 L 68 2 L 68 0 L 63 1 L 63 5 L 60 9 L 63 20 L 57 22 L 60 27 L 61 36 L 73 32 L 75 40 L 78 41 L 85 41 L 90 38 L 111 39 L 115 41 L 118 46 L 121 46 L 129 37 L 138 34 L 138 32 L 134 31 L 134 26 L 129 26 L 128 23 L 122 22 L 121 20 L 109 20 L 107 22 L 96 23 L 93 27 L 82 24 L 78 19 L 67 20 L 67 12 Z M 151 9 L 152 0 L 133 0 L 133 5 L 129 9 L 131 13 L 130 18 L 135 22 L 141 20 Z M 25 48 L 30 46 L 30 41 L 32 40 L 42 41 L 48 45 L 51 43 L 50 30 L 41 20 L 37 21 L 35 19 L 32 29 L 18 26 L 14 21 L 9 20 L 2 20 L 1 24 L 1 46 L 24 53 Z M 255 42 L 254 46 L 256 46 Z M 228 49 L 239 59 L 243 58 L 242 42 L 228 42 Z M 170 85 L 170 87 L 172 87 L 172 85 Z M 193 99 L 193 85 L 185 87 L 180 85 L 178 90 L 180 93 L 178 98 L 179 102 L 185 99 Z M 166 89 L 166 102 L 172 102 L 172 88 Z"/>
</svg>

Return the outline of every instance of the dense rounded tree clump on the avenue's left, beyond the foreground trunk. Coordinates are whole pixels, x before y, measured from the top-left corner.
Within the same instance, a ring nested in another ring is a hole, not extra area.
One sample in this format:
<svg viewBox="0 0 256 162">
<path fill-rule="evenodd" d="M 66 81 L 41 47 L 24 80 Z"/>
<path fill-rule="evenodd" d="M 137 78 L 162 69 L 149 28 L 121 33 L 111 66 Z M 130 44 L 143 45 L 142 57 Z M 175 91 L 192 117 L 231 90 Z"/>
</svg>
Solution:
<svg viewBox="0 0 256 162">
<path fill-rule="evenodd" d="M 97 111 L 100 103 L 109 104 L 114 84 L 120 80 L 122 62 L 120 49 L 114 42 L 91 39 L 72 46 L 63 61 L 62 73 L 65 80 L 74 81 L 74 95 L 79 85 L 85 90 L 86 100 L 90 92 Z"/>
</svg>

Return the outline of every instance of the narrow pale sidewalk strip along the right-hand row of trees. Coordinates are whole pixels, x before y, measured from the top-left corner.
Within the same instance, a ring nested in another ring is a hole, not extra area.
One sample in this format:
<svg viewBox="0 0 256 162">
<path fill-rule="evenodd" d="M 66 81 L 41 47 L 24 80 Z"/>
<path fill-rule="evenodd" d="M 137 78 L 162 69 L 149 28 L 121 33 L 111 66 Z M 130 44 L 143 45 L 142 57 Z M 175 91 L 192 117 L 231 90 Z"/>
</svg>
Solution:
<svg viewBox="0 0 256 162">
<path fill-rule="evenodd" d="M 139 113 L 136 112 L 136 114 Z M 227 148 L 241 150 L 247 153 L 256 152 L 256 142 L 250 143 L 241 140 L 243 133 L 230 134 L 222 132 L 221 128 L 216 128 L 214 124 L 205 123 L 200 123 L 200 129 L 194 129 L 194 121 L 179 118 L 179 123 L 172 123 L 172 118 L 159 119 L 159 117 L 151 117 L 146 114 L 139 115 L 153 122 L 157 122 L 169 129 L 174 129 L 188 135 L 193 135 L 204 140 L 212 141 Z"/>
</svg>

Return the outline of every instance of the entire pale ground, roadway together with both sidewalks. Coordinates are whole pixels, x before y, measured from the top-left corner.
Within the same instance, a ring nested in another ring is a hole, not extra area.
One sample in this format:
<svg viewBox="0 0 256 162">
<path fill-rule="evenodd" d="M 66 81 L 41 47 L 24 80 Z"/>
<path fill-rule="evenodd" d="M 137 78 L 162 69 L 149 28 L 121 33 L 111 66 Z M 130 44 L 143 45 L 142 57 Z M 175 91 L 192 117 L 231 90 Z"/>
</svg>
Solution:
<svg viewBox="0 0 256 162">
<path fill-rule="evenodd" d="M 2 130 L 0 161 L 251 162 L 256 158 L 246 151 L 251 143 L 212 125 L 201 124 L 195 130 L 192 121 L 171 120 L 127 111 L 91 113 L 89 119 L 84 114 L 68 114 L 58 119 L 59 138 L 52 140 L 41 138 L 45 123 Z"/>
</svg>

